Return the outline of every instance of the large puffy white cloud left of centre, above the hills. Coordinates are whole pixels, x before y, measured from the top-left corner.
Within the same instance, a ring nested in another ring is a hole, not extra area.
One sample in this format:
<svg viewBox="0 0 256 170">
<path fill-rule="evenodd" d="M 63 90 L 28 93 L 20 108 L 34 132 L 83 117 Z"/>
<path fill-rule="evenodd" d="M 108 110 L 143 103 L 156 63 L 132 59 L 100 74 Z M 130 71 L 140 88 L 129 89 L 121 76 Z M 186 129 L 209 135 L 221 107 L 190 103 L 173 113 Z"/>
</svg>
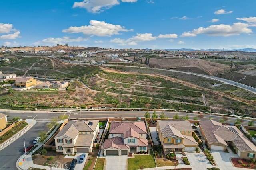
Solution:
<svg viewBox="0 0 256 170">
<path fill-rule="evenodd" d="M 128 32 L 133 31 L 128 30 L 120 25 L 113 25 L 106 23 L 104 21 L 90 20 L 90 25 L 85 25 L 81 27 L 69 27 L 68 29 L 63 29 L 64 33 L 83 33 L 84 35 L 96 35 L 99 37 L 118 35 L 120 31 Z"/>
</svg>

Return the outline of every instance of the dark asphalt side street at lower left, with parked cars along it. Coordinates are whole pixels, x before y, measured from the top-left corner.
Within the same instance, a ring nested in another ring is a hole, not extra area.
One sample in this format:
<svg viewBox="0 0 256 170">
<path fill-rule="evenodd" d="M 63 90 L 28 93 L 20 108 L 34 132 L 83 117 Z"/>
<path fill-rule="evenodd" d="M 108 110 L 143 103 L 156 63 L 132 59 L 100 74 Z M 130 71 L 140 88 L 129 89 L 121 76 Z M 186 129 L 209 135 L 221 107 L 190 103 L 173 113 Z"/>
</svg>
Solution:
<svg viewBox="0 0 256 170">
<path fill-rule="evenodd" d="M 24 135 L 25 144 L 33 144 L 33 141 L 40 131 L 46 131 L 47 122 L 38 122 Z M 18 138 L 16 141 L 11 143 L 8 147 L 0 151 L 0 170 L 16 170 L 16 162 L 21 155 L 24 154 L 24 141 L 23 137 Z"/>
</svg>

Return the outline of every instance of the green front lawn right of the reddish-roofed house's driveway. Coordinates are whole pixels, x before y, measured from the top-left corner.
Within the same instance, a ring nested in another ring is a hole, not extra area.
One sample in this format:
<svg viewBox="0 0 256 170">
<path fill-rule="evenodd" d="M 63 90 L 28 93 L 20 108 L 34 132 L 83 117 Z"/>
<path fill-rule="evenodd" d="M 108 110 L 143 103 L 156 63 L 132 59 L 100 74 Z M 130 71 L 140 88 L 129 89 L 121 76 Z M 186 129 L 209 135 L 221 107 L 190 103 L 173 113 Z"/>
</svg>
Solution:
<svg viewBox="0 0 256 170">
<path fill-rule="evenodd" d="M 156 167 L 154 155 L 141 155 L 135 158 L 128 159 L 128 170 L 136 170 L 141 168 L 154 168 Z"/>
</svg>

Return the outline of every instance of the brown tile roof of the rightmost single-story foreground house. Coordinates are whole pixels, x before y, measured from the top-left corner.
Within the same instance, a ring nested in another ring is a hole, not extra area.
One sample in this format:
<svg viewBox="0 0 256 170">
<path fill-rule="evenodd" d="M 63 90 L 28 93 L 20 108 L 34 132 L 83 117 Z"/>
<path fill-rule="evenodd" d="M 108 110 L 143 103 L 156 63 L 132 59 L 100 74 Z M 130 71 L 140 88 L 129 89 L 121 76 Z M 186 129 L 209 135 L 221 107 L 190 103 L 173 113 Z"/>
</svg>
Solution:
<svg viewBox="0 0 256 170">
<path fill-rule="evenodd" d="M 222 125 L 213 120 L 201 121 L 200 126 L 210 144 L 219 142 L 227 146 L 225 141 L 232 141 L 240 152 L 256 152 L 256 146 L 236 126 Z"/>
</svg>

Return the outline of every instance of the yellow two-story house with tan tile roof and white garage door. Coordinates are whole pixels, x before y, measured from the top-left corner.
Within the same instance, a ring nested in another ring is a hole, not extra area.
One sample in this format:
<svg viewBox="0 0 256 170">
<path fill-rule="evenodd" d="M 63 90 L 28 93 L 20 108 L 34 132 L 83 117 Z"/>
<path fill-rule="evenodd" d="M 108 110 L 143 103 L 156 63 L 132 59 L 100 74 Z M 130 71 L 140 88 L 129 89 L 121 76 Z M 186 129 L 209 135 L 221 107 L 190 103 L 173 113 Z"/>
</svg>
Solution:
<svg viewBox="0 0 256 170">
<path fill-rule="evenodd" d="M 175 151 L 195 151 L 198 143 L 187 120 L 158 120 L 157 132 L 165 154 Z"/>
</svg>

